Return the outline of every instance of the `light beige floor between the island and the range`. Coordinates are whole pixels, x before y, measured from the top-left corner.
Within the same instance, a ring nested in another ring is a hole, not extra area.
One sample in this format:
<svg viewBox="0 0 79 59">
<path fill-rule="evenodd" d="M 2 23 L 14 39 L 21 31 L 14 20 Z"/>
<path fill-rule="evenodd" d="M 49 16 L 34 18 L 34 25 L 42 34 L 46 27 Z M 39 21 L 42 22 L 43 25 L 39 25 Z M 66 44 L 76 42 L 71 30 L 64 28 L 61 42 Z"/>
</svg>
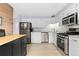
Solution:
<svg viewBox="0 0 79 59">
<path fill-rule="evenodd" d="M 53 44 L 29 44 L 27 45 L 27 56 L 62 56 Z"/>
</svg>

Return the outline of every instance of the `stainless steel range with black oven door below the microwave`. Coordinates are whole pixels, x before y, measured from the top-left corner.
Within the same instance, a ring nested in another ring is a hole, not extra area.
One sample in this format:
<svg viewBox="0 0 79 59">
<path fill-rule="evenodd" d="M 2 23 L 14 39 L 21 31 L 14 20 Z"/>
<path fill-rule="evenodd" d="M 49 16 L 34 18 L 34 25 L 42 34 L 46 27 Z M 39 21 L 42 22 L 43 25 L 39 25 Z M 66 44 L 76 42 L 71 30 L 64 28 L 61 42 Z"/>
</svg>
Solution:
<svg viewBox="0 0 79 59">
<path fill-rule="evenodd" d="M 65 55 L 69 55 L 69 39 L 67 33 L 57 33 L 57 46 Z"/>
</svg>

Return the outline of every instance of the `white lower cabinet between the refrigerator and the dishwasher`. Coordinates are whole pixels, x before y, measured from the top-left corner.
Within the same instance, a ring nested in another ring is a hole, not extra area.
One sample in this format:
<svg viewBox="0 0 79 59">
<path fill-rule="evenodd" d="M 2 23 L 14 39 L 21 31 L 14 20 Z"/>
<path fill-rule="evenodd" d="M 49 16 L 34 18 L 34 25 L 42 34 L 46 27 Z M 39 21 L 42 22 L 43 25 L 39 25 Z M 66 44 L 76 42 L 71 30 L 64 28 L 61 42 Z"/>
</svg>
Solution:
<svg viewBox="0 0 79 59">
<path fill-rule="evenodd" d="M 41 32 L 32 32 L 31 33 L 31 42 L 32 43 L 41 43 Z"/>
</svg>

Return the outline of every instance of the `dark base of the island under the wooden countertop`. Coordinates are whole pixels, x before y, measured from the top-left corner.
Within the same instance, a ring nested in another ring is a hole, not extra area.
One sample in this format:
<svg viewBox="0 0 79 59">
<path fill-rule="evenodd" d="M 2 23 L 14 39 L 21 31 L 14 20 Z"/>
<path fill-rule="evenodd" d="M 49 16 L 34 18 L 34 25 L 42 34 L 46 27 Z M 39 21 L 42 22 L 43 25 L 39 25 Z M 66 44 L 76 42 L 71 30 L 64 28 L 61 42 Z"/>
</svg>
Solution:
<svg viewBox="0 0 79 59">
<path fill-rule="evenodd" d="M 25 56 L 27 54 L 25 38 L 19 38 L 0 46 L 0 56 Z"/>
</svg>

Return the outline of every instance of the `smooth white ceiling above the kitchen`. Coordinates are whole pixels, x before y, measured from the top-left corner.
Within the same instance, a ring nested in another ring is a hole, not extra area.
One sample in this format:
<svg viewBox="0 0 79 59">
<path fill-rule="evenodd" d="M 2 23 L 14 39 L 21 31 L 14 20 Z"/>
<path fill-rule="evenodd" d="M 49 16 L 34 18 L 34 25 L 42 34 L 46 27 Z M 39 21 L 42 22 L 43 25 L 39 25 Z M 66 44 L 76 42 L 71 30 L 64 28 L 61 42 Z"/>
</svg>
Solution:
<svg viewBox="0 0 79 59">
<path fill-rule="evenodd" d="M 67 3 L 9 3 L 14 15 L 27 17 L 50 17 L 56 15 Z"/>
</svg>

